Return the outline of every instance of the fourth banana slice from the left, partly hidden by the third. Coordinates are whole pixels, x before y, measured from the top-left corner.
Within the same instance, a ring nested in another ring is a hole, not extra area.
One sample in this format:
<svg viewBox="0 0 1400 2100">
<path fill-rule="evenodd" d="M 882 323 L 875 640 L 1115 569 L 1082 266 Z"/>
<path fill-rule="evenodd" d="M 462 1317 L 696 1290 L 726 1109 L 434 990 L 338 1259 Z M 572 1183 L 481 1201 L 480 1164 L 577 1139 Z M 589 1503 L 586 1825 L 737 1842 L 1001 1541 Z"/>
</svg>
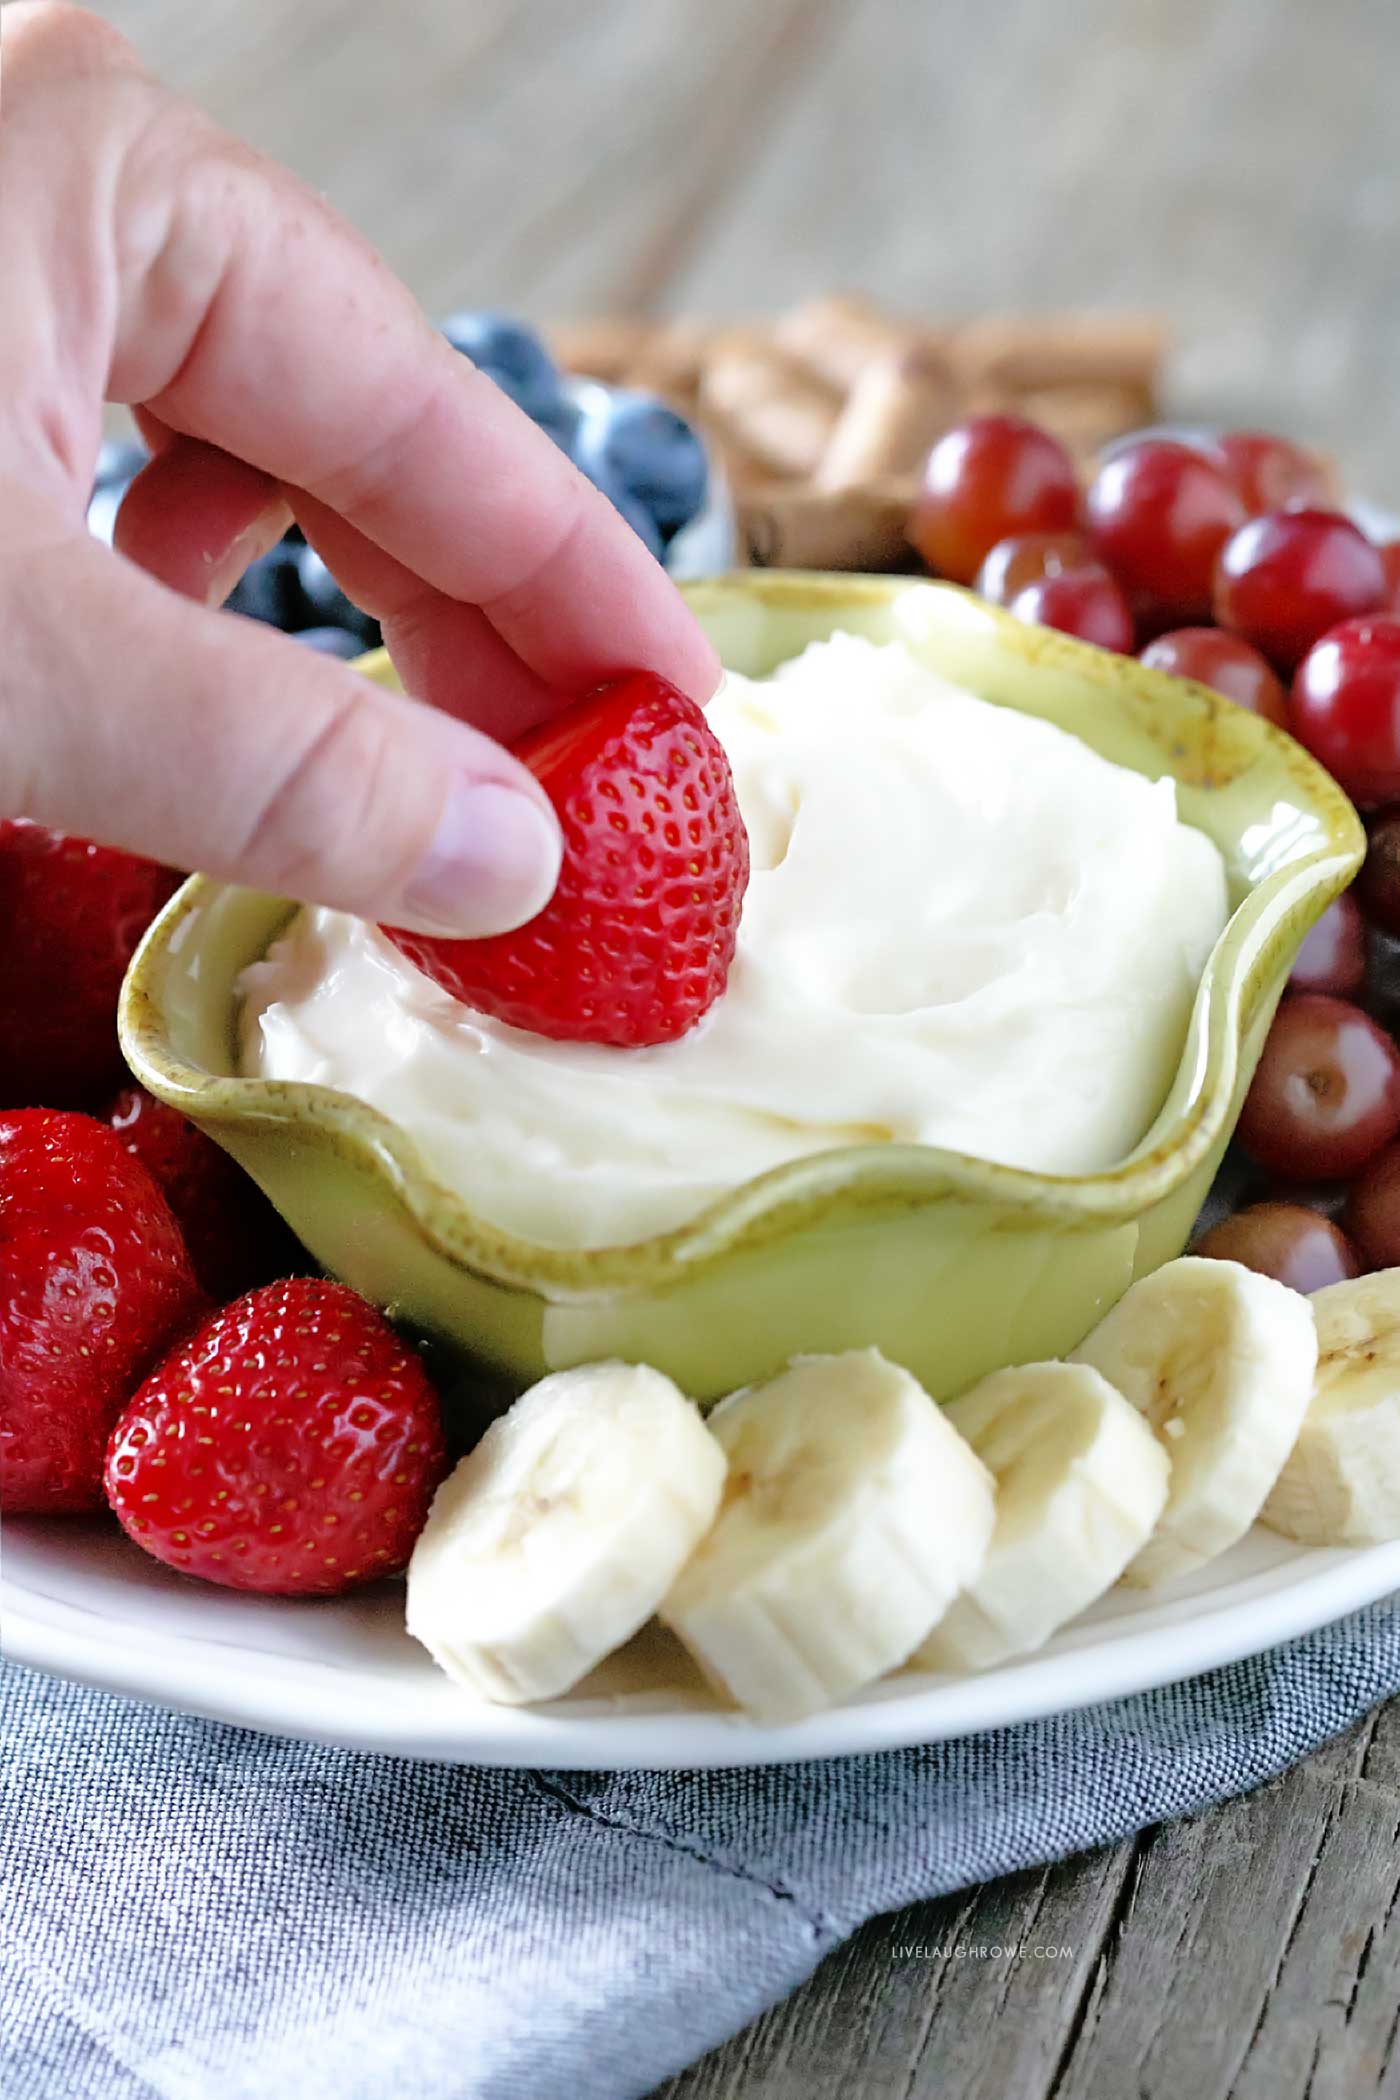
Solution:
<svg viewBox="0 0 1400 2100">
<path fill-rule="evenodd" d="M 1285 1283 L 1184 1256 L 1140 1277 L 1070 1361 L 1102 1371 L 1171 1460 L 1167 1508 L 1123 1577 L 1152 1588 L 1257 1518 L 1303 1422 L 1318 1334 Z"/>
</svg>

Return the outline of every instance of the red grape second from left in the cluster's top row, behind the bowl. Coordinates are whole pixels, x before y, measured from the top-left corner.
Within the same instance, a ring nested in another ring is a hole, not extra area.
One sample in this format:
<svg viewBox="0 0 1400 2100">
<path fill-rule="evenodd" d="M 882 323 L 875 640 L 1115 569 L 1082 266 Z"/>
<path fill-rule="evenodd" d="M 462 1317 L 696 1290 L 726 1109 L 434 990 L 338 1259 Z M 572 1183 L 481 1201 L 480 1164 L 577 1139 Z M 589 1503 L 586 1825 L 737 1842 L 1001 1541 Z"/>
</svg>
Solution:
<svg viewBox="0 0 1400 2100">
<path fill-rule="evenodd" d="M 1148 437 L 1102 462 L 1085 496 L 1089 542 L 1157 626 L 1211 611 L 1215 556 L 1245 504 L 1224 472 L 1169 437 Z"/>
</svg>

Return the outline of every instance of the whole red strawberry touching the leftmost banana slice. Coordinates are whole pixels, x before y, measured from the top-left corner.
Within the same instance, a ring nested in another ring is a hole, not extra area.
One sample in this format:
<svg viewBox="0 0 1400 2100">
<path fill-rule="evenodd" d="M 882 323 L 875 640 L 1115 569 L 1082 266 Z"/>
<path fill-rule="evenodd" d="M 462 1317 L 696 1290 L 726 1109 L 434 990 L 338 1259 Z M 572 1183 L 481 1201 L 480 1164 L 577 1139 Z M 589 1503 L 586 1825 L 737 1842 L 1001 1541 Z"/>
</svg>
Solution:
<svg viewBox="0 0 1400 2100">
<path fill-rule="evenodd" d="M 332 1596 L 407 1562 L 445 1470 L 413 1350 L 348 1285 L 294 1277 L 147 1378 L 111 1432 L 107 1499 L 172 1569 Z"/>
</svg>

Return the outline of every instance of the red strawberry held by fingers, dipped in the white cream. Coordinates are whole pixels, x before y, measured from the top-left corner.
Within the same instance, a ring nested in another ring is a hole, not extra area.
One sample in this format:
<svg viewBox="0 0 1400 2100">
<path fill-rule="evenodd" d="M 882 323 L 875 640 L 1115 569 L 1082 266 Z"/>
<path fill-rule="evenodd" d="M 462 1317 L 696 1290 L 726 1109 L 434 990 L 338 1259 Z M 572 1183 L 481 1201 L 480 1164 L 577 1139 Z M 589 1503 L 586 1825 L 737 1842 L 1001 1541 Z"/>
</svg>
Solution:
<svg viewBox="0 0 1400 2100">
<path fill-rule="evenodd" d="M 516 743 L 558 811 L 565 861 L 516 932 L 386 928 L 437 985 L 563 1042 L 665 1044 L 724 991 L 749 840 L 703 710 L 651 672 L 602 685 Z"/>
</svg>

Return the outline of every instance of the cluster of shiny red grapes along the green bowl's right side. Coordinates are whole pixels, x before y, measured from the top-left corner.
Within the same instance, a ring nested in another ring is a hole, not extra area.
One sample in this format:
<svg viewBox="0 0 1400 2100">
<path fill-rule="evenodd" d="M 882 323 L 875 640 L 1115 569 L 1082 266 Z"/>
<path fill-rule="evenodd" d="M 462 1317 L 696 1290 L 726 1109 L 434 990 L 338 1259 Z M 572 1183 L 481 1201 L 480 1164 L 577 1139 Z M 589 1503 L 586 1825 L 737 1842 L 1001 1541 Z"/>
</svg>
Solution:
<svg viewBox="0 0 1400 2100">
<path fill-rule="evenodd" d="M 1400 540 L 1320 460 L 1228 430 L 1121 439 L 1081 489 L 1045 430 L 974 416 L 930 454 L 909 538 L 1018 620 L 1199 678 L 1289 729 L 1366 815 L 1356 888 L 1303 943 L 1203 1254 L 1312 1292 L 1400 1264 Z"/>
</svg>

